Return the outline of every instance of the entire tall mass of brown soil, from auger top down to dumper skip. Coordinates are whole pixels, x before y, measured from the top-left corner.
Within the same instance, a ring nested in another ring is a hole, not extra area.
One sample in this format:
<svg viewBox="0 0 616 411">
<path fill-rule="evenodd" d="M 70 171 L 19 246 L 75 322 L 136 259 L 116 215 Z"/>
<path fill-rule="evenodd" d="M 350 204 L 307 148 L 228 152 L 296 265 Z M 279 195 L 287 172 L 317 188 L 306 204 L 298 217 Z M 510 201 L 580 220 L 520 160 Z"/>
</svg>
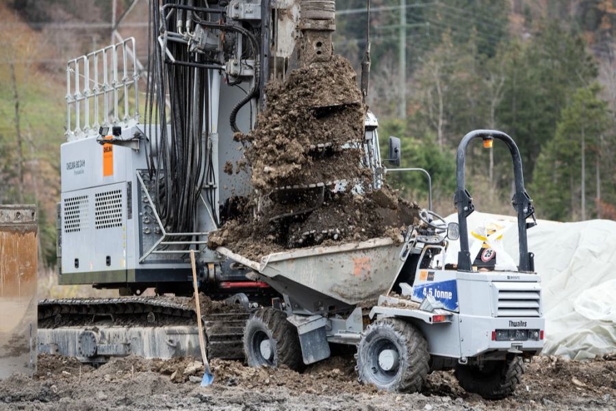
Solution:
<svg viewBox="0 0 616 411">
<path fill-rule="evenodd" d="M 230 201 L 233 218 L 210 234 L 210 248 L 259 260 L 296 247 L 398 240 L 415 223 L 416 204 L 387 186 L 374 190 L 364 160 L 365 107 L 348 60 L 333 55 L 294 70 L 268 84 L 266 95 L 255 129 L 235 135 L 246 144 L 255 195 Z"/>
</svg>

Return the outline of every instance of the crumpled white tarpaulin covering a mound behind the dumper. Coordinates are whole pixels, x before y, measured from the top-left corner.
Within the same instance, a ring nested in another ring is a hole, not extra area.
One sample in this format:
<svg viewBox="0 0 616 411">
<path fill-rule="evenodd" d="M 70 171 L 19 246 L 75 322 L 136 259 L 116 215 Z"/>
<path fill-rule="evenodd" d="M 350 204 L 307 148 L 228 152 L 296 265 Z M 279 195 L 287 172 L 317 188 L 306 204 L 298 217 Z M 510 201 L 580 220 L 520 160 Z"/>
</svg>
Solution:
<svg viewBox="0 0 616 411">
<path fill-rule="evenodd" d="M 446 220 L 457 221 L 457 215 Z M 468 229 L 495 222 L 506 226 L 502 248 L 517 263 L 515 217 L 473 212 Z M 472 250 L 478 242 L 469 234 Z M 452 242 L 447 262 L 457 262 L 458 251 L 459 242 Z M 538 221 L 528 229 L 528 251 L 535 253 L 543 288 L 543 354 L 582 360 L 616 351 L 616 221 Z"/>
</svg>

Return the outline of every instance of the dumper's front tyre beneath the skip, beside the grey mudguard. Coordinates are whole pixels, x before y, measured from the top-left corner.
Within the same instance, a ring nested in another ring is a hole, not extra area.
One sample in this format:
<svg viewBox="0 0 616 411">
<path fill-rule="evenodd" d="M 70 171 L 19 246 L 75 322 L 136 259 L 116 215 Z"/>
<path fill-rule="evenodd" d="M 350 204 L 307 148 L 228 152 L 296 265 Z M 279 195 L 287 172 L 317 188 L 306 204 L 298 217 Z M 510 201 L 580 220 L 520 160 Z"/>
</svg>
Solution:
<svg viewBox="0 0 616 411">
<path fill-rule="evenodd" d="M 270 358 L 260 349 L 263 340 L 270 344 Z M 248 366 L 277 368 L 286 365 L 295 371 L 304 368 L 297 329 L 280 310 L 260 308 L 255 311 L 246 321 L 243 343 Z"/>
</svg>

